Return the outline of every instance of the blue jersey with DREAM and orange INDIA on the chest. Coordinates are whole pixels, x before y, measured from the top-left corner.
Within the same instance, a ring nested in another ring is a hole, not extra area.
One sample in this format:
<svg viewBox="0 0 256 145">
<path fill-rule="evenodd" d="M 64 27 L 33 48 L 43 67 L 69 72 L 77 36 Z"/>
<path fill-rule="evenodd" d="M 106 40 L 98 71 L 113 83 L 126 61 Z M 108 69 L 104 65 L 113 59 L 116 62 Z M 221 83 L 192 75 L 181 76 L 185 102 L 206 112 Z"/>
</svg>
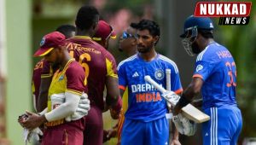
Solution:
<svg viewBox="0 0 256 145">
<path fill-rule="evenodd" d="M 128 109 L 125 118 L 148 122 L 165 117 L 166 100 L 160 96 L 160 91 L 145 82 L 144 77 L 149 75 L 166 88 L 167 68 L 172 72 L 172 90 L 180 93 L 183 89 L 177 66 L 163 55 L 157 55 L 153 61 L 147 62 L 137 54 L 119 63 L 119 88 L 125 90 L 125 87 L 128 87 Z"/>
</svg>

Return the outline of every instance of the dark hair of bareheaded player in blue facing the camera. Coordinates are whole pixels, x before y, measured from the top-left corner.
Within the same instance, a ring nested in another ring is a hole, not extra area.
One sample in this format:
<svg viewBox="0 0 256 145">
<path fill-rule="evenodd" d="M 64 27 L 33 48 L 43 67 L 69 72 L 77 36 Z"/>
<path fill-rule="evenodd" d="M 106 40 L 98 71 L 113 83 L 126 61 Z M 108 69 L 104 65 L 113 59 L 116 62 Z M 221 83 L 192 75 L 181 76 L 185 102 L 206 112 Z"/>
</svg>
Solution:
<svg viewBox="0 0 256 145">
<path fill-rule="evenodd" d="M 141 20 L 139 23 L 131 23 L 130 26 L 138 30 L 147 29 L 152 36 L 160 37 L 160 27 L 153 20 Z"/>
</svg>

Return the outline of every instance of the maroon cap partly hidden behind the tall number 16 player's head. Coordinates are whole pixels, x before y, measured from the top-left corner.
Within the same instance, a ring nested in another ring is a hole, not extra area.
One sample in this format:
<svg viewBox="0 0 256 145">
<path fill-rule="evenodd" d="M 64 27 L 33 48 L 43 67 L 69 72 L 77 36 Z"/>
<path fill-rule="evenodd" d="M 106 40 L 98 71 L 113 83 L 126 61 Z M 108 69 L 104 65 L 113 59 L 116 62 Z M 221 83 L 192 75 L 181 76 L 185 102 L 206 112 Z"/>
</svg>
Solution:
<svg viewBox="0 0 256 145">
<path fill-rule="evenodd" d="M 102 39 L 107 38 L 116 38 L 116 33 L 113 32 L 112 26 L 110 26 L 106 21 L 99 20 L 98 22 L 98 29 L 96 31 L 96 34 L 92 38 L 95 41 L 101 41 Z"/>
</svg>

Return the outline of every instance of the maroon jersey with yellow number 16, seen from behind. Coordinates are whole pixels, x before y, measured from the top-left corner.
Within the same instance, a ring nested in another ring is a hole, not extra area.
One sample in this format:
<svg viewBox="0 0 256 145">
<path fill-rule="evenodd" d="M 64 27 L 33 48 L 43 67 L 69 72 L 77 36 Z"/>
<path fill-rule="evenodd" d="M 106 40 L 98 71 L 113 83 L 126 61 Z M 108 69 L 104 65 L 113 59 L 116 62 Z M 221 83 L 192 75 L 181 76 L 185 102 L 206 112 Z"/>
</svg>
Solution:
<svg viewBox="0 0 256 145">
<path fill-rule="evenodd" d="M 91 105 L 103 110 L 103 91 L 107 77 L 118 78 L 116 62 L 108 50 L 90 37 L 75 36 L 67 39 L 69 54 L 85 69 L 88 96 Z"/>
</svg>

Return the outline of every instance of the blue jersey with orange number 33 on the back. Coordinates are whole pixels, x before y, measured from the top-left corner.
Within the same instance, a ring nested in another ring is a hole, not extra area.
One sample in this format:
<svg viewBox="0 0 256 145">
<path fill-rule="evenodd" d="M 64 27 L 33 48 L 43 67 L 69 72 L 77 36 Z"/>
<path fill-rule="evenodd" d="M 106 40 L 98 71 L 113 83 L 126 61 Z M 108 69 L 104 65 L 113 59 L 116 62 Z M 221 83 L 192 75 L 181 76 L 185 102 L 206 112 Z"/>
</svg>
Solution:
<svg viewBox="0 0 256 145">
<path fill-rule="evenodd" d="M 198 56 L 193 77 L 204 80 L 203 108 L 236 105 L 236 63 L 224 46 L 212 43 Z"/>
</svg>

